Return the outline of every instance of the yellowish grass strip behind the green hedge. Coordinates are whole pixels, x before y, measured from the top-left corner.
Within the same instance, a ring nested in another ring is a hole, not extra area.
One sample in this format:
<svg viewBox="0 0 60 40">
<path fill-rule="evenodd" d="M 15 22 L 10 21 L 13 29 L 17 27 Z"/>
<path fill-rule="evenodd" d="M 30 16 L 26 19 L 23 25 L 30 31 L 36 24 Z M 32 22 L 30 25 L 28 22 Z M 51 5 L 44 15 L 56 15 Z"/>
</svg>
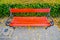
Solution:
<svg viewBox="0 0 60 40">
<path fill-rule="evenodd" d="M 60 4 L 60 0 L 0 0 L 0 4 L 29 4 L 29 3 L 49 3 Z"/>
</svg>

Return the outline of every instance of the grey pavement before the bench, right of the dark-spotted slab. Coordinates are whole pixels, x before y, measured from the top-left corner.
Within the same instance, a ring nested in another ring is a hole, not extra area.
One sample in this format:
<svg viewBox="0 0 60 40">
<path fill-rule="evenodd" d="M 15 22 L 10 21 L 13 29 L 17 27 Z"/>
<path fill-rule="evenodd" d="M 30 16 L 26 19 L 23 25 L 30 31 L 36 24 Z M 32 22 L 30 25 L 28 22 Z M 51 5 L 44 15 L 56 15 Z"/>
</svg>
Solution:
<svg viewBox="0 0 60 40">
<path fill-rule="evenodd" d="M 60 40 L 60 31 L 55 26 L 47 30 L 40 27 L 30 29 L 21 27 L 13 31 L 11 38 L 0 38 L 0 40 Z"/>
</svg>

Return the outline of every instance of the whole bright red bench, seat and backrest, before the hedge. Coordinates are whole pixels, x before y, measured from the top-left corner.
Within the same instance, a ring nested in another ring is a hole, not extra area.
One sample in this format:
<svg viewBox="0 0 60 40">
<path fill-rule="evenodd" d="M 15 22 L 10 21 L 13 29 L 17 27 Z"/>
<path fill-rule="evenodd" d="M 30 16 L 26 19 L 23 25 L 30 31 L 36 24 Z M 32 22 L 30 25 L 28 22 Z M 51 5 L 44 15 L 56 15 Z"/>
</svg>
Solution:
<svg viewBox="0 0 60 40">
<path fill-rule="evenodd" d="M 18 12 L 41 12 L 41 13 L 50 13 L 50 8 L 40 8 L 40 9 L 33 9 L 33 8 L 11 8 L 10 13 L 18 13 Z M 52 19 L 51 19 L 52 20 Z M 12 21 L 7 22 L 9 23 L 9 26 L 12 27 L 20 27 L 20 26 L 52 26 L 53 20 L 49 21 L 48 17 L 42 16 L 42 17 L 16 17 L 14 16 Z"/>
</svg>

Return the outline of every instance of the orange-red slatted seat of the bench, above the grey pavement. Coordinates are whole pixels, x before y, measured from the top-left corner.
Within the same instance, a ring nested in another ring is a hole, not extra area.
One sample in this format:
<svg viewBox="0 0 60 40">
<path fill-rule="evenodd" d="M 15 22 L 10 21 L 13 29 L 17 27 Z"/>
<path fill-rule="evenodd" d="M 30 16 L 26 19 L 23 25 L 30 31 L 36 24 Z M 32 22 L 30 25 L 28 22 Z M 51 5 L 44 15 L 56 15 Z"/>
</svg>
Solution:
<svg viewBox="0 0 60 40">
<path fill-rule="evenodd" d="M 10 26 L 50 26 L 47 17 L 13 17 Z"/>
</svg>

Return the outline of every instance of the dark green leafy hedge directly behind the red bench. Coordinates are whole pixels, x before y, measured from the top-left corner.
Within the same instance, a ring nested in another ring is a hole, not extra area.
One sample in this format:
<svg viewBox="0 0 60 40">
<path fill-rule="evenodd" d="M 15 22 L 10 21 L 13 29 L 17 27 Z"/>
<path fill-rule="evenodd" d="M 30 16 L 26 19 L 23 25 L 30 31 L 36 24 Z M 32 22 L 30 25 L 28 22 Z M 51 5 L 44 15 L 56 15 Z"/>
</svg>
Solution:
<svg viewBox="0 0 60 40">
<path fill-rule="evenodd" d="M 48 4 L 48 3 L 33 3 L 33 4 L 1 4 L 0 5 L 0 17 L 9 16 L 9 8 L 51 8 L 52 17 L 60 17 L 60 4 Z M 17 16 L 42 16 L 40 13 L 24 13 L 15 14 Z M 45 15 L 45 14 L 44 14 Z"/>
</svg>

